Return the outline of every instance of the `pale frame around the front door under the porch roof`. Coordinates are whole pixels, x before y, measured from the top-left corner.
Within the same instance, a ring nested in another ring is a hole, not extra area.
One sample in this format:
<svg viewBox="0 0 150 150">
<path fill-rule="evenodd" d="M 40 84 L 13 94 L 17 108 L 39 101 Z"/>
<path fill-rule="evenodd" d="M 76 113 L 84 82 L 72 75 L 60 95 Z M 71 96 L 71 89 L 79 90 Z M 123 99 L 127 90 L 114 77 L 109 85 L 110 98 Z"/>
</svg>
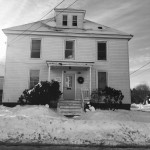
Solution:
<svg viewBox="0 0 150 150">
<path fill-rule="evenodd" d="M 68 71 L 68 70 L 62 70 L 62 93 L 64 92 L 64 71 L 66 71 L 66 73 L 70 73 L 70 74 L 74 74 L 74 84 L 75 84 L 75 90 L 74 90 L 74 94 L 75 94 L 75 100 L 76 100 L 76 87 L 77 87 L 77 82 L 76 82 L 76 71 Z M 64 96 L 63 96 L 63 99 L 64 99 Z"/>
</svg>

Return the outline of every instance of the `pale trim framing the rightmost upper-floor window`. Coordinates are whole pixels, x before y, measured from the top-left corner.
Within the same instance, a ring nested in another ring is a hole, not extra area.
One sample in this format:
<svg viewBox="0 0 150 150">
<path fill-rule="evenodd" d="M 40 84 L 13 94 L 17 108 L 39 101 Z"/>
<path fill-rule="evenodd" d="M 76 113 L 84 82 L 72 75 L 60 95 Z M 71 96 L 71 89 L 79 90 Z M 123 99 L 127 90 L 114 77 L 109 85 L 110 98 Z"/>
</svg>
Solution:
<svg viewBox="0 0 150 150">
<path fill-rule="evenodd" d="M 106 60 L 98 60 L 98 43 L 106 43 Z M 108 61 L 108 41 L 107 40 L 96 41 L 96 61 L 100 61 L 100 62 Z"/>
</svg>

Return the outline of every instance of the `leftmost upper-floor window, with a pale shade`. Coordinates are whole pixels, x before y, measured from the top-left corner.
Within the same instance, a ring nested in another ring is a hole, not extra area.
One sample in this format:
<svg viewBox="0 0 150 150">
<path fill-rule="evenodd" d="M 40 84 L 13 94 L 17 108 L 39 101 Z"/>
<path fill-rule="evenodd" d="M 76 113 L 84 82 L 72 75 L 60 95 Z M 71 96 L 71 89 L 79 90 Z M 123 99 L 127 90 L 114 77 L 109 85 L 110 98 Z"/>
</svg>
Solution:
<svg viewBox="0 0 150 150">
<path fill-rule="evenodd" d="M 32 39 L 31 43 L 31 58 L 40 58 L 41 40 Z"/>
</svg>

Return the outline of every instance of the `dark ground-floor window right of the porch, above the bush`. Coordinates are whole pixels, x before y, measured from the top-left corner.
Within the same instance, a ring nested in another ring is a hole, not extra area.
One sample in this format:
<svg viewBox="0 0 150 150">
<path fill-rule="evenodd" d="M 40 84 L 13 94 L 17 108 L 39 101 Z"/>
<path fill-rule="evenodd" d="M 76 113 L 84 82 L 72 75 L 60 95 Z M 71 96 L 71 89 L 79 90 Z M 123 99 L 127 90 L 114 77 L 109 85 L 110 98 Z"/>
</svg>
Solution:
<svg viewBox="0 0 150 150">
<path fill-rule="evenodd" d="M 104 89 L 107 86 L 106 72 L 98 72 L 98 89 Z"/>
</svg>

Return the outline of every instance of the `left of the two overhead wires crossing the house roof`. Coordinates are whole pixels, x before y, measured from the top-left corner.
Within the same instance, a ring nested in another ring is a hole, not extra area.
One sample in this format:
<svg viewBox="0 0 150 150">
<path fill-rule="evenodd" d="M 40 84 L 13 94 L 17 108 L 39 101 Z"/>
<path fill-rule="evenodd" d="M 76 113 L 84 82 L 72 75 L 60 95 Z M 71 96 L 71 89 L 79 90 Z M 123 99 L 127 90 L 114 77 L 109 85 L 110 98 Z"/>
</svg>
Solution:
<svg viewBox="0 0 150 150">
<path fill-rule="evenodd" d="M 62 0 L 59 4 L 57 4 L 53 9 L 51 9 L 49 12 L 47 12 L 43 17 L 41 17 L 39 19 L 42 20 L 44 17 L 46 17 L 49 13 L 51 13 L 56 7 L 58 7 L 60 4 L 62 4 L 65 0 Z M 28 31 L 31 27 L 33 27 L 38 21 L 36 21 L 34 24 L 32 24 L 29 28 L 27 28 L 25 31 L 23 31 L 22 33 L 20 33 L 19 35 L 17 35 L 14 39 L 12 39 L 8 44 L 10 44 L 11 42 L 15 41 L 15 39 L 17 39 L 19 36 L 21 36 L 23 33 L 25 33 L 26 31 Z"/>
</svg>

